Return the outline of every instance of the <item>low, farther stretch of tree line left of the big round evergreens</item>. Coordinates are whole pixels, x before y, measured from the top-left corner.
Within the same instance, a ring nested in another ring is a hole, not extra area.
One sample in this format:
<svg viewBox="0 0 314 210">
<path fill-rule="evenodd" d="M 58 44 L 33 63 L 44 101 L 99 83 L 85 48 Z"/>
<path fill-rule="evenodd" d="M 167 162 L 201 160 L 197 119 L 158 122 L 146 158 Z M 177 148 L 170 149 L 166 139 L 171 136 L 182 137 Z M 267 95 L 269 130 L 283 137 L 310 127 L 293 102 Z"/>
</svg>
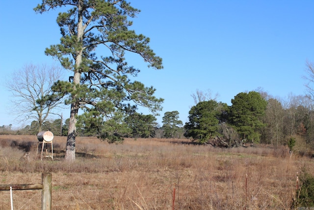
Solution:
<svg viewBox="0 0 314 210">
<path fill-rule="evenodd" d="M 115 130 L 115 135 L 121 138 L 183 138 L 183 123 L 179 120 L 179 112 L 166 112 L 162 118 L 163 125 L 160 127 L 157 119 L 153 115 L 143 115 L 137 112 L 126 117 L 123 121 L 124 129 Z M 39 125 L 37 120 L 33 120 L 23 128 L 12 130 L 12 124 L 0 127 L 0 134 L 37 135 L 39 127 L 42 130 L 49 130 L 55 136 L 67 136 L 70 119 L 64 122 L 61 119 L 45 120 Z M 181 127 L 180 127 L 181 125 Z M 78 122 L 78 136 L 99 136 L 99 130 L 93 126 L 87 126 Z"/>
</svg>

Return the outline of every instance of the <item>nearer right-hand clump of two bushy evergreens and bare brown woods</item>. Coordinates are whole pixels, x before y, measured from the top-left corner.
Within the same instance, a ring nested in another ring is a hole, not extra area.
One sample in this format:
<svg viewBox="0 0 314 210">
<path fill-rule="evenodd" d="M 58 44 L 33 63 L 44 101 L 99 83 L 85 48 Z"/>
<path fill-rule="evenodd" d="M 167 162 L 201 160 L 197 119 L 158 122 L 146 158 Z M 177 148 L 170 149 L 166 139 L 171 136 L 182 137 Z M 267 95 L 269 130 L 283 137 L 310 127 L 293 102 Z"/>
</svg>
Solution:
<svg viewBox="0 0 314 210">
<path fill-rule="evenodd" d="M 240 92 L 232 105 L 201 101 L 189 112 L 185 136 L 226 147 L 247 143 L 288 145 L 298 135 L 314 149 L 314 104 L 306 95 L 274 98 L 262 90 Z M 212 140 L 212 141 L 210 141 Z"/>
</svg>

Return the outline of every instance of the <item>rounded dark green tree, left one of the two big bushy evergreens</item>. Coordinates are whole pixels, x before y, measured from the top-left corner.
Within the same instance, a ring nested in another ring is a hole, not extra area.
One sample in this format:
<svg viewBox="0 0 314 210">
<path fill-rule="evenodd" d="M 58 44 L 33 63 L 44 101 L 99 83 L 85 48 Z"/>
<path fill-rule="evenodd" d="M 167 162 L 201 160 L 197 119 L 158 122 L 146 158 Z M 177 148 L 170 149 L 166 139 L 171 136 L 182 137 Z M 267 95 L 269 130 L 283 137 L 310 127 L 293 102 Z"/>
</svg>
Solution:
<svg viewBox="0 0 314 210">
<path fill-rule="evenodd" d="M 220 115 L 221 112 L 216 101 L 199 102 L 189 111 L 189 121 L 184 125 L 184 136 L 198 139 L 200 143 L 206 143 L 218 134 Z"/>
</svg>

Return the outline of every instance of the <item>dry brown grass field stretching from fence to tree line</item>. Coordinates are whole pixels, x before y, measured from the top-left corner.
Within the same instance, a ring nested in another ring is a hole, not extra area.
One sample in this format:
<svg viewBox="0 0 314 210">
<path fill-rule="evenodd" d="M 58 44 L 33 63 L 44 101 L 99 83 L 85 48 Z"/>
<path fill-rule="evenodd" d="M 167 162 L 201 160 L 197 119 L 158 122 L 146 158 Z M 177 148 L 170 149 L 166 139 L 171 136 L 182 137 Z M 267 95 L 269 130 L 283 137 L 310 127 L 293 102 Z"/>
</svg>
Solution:
<svg viewBox="0 0 314 210">
<path fill-rule="evenodd" d="M 50 172 L 53 210 L 288 210 L 297 172 L 306 167 L 314 173 L 313 158 L 290 157 L 286 147 L 189 143 L 126 139 L 109 145 L 78 137 L 70 164 L 63 161 L 66 137 L 54 137 L 53 161 L 40 161 L 36 136 L 0 135 L 0 184 L 41 183 L 41 174 Z M 26 151 L 29 160 L 21 158 Z M 13 191 L 13 206 L 40 210 L 40 190 Z M 0 210 L 10 208 L 9 191 L 0 191 Z"/>
</svg>

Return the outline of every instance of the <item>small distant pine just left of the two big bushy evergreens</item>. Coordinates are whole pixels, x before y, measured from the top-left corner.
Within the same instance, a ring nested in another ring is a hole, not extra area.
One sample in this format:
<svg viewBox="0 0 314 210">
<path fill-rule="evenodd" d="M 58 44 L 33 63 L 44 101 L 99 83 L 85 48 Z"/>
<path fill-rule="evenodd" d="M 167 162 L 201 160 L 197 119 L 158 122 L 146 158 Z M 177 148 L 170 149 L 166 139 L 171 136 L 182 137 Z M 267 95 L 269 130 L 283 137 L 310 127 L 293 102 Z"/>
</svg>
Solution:
<svg viewBox="0 0 314 210">
<path fill-rule="evenodd" d="M 166 138 L 174 138 L 183 126 L 183 122 L 179 120 L 179 112 L 165 112 L 162 117 L 163 135 Z"/>
</svg>

